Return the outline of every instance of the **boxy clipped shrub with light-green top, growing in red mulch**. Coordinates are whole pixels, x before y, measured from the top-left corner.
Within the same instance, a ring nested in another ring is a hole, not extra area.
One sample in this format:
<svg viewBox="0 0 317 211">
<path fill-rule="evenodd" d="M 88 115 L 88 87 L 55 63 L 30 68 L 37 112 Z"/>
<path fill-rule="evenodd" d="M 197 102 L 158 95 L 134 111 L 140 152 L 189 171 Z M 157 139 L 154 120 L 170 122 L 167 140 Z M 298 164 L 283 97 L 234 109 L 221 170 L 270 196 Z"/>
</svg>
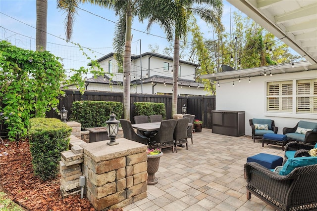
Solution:
<svg viewBox="0 0 317 211">
<path fill-rule="evenodd" d="M 34 174 L 42 180 L 59 173 L 60 152 L 69 148 L 71 127 L 55 118 L 30 119 L 29 142 Z"/>
</svg>

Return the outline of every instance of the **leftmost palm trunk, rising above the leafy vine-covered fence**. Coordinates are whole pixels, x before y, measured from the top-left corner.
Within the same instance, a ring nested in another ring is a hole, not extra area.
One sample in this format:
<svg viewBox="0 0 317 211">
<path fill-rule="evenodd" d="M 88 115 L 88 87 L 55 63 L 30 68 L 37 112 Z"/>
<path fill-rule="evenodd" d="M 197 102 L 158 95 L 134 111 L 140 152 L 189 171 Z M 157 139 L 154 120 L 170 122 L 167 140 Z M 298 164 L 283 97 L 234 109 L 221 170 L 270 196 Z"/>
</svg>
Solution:
<svg viewBox="0 0 317 211">
<path fill-rule="evenodd" d="M 36 0 L 36 50 L 46 50 L 48 0 Z"/>
</svg>

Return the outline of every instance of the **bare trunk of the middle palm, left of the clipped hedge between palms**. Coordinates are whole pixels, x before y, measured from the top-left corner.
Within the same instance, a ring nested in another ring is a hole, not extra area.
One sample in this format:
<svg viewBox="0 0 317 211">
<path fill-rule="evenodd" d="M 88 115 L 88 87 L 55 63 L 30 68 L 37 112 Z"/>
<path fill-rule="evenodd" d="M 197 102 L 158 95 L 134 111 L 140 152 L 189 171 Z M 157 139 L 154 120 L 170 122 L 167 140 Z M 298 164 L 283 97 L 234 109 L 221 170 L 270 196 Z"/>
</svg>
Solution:
<svg viewBox="0 0 317 211">
<path fill-rule="evenodd" d="M 123 111 L 124 119 L 130 120 L 130 72 L 131 72 L 131 26 L 132 15 L 131 11 L 127 11 L 126 14 L 126 29 L 125 29 L 125 46 L 123 55 Z"/>
</svg>

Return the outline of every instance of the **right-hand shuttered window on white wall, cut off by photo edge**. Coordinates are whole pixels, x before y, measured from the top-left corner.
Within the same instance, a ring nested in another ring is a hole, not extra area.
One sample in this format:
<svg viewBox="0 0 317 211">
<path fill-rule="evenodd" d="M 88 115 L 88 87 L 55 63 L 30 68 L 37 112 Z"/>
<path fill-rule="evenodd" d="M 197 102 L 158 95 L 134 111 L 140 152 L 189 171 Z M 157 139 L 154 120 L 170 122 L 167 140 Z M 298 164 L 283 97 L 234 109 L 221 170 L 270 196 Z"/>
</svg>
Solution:
<svg viewBox="0 0 317 211">
<path fill-rule="evenodd" d="M 317 79 L 297 81 L 296 112 L 317 113 Z"/>
</svg>

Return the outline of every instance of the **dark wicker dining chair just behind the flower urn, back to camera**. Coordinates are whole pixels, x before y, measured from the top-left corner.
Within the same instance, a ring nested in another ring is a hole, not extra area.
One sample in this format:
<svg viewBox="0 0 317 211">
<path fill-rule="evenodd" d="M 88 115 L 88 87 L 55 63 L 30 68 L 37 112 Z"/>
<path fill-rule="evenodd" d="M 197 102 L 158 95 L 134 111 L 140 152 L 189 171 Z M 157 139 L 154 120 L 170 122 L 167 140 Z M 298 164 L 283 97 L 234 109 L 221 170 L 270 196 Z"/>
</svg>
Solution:
<svg viewBox="0 0 317 211">
<path fill-rule="evenodd" d="M 160 123 L 159 131 L 154 137 L 149 139 L 150 148 L 166 148 L 172 147 L 174 153 L 174 129 L 177 120 L 163 120 Z"/>
</svg>

